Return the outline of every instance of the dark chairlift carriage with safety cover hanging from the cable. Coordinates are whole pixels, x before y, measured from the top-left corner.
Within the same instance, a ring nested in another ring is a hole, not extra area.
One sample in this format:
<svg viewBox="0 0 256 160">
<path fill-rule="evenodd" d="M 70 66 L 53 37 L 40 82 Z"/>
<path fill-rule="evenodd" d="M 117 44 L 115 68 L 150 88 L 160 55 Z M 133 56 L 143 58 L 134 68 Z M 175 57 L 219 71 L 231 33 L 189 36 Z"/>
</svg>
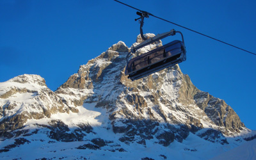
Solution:
<svg viewBox="0 0 256 160">
<path fill-rule="evenodd" d="M 128 61 L 131 52 L 136 52 L 136 50 L 141 47 L 145 47 L 148 44 L 152 44 L 157 40 L 161 40 L 166 36 L 175 35 L 175 33 L 180 33 L 182 36 L 182 41 L 174 40 L 168 44 L 165 44 L 157 49 L 146 52 L 132 58 Z M 184 38 L 180 31 L 175 31 L 172 29 L 169 32 L 163 33 L 161 35 L 156 35 L 152 38 L 149 38 L 137 45 L 136 47 L 131 48 L 131 52 L 127 54 L 127 65 L 125 68 L 125 76 L 128 75 L 128 78 L 132 81 L 140 79 L 141 77 L 148 76 L 164 68 L 171 67 L 186 60 L 186 47 L 184 44 Z"/>
</svg>

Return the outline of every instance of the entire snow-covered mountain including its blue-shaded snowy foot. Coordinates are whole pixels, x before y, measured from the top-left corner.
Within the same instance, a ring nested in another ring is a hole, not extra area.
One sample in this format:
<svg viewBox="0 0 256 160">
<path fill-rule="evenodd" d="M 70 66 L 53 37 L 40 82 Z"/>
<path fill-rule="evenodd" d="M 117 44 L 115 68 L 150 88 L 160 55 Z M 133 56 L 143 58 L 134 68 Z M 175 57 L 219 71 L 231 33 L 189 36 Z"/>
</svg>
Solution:
<svg viewBox="0 0 256 160">
<path fill-rule="evenodd" d="M 140 36 L 133 45 L 139 42 Z M 37 75 L 0 83 L 0 158 L 211 159 L 256 138 L 224 100 L 198 90 L 179 65 L 127 79 L 127 52 L 118 42 L 55 92 Z"/>
</svg>

